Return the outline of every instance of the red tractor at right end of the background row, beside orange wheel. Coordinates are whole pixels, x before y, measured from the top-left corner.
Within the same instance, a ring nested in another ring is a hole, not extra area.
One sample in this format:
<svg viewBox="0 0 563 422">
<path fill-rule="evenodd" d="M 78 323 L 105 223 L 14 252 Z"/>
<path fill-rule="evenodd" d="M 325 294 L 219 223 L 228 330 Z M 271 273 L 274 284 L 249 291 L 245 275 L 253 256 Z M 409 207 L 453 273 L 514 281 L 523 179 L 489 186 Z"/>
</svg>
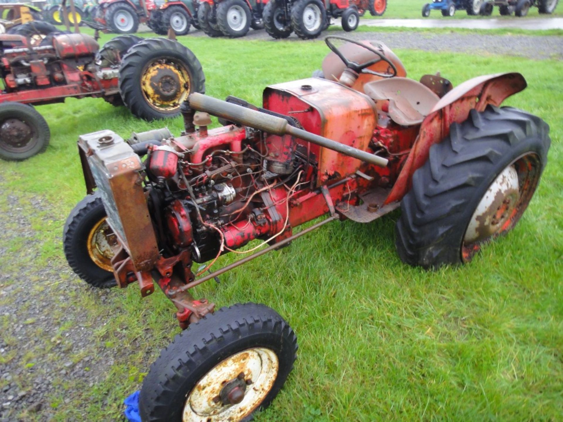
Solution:
<svg viewBox="0 0 563 422">
<path fill-rule="evenodd" d="M 266 32 L 273 38 L 287 38 L 293 32 L 302 39 L 317 38 L 328 28 L 332 18 L 341 18 L 342 29 L 358 28 L 360 16 L 368 9 L 381 16 L 387 0 L 270 0 L 264 8 Z"/>
</svg>

